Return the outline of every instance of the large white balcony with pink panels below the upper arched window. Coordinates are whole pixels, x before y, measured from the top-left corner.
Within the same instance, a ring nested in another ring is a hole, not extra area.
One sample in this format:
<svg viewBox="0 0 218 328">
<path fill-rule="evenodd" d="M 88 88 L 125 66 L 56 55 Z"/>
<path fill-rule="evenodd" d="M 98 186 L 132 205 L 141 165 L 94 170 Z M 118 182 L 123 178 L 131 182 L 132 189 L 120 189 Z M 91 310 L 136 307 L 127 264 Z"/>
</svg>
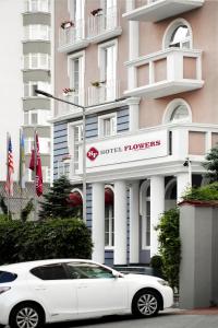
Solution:
<svg viewBox="0 0 218 328">
<path fill-rule="evenodd" d="M 126 96 L 156 99 L 204 85 L 201 50 L 168 48 L 125 65 L 133 73 Z"/>
</svg>

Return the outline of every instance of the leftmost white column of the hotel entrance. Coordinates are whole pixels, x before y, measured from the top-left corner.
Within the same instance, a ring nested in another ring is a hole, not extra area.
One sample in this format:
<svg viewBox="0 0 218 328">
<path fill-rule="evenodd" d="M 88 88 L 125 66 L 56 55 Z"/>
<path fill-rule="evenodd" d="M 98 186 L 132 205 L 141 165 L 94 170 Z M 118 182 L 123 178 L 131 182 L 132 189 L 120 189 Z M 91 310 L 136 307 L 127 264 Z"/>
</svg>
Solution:
<svg viewBox="0 0 218 328">
<path fill-rule="evenodd" d="M 105 185 L 93 184 L 93 260 L 105 262 Z"/>
</svg>

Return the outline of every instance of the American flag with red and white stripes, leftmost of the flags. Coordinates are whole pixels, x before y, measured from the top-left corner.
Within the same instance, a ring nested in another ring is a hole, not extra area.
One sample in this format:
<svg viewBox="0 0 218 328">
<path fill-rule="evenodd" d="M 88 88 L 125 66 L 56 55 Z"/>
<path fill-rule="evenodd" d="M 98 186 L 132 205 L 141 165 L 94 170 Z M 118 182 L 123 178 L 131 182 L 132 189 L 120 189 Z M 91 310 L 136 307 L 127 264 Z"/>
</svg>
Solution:
<svg viewBox="0 0 218 328">
<path fill-rule="evenodd" d="M 8 196 L 13 196 L 13 152 L 12 152 L 12 142 L 11 136 L 7 134 L 7 181 L 5 181 L 5 191 Z"/>
</svg>

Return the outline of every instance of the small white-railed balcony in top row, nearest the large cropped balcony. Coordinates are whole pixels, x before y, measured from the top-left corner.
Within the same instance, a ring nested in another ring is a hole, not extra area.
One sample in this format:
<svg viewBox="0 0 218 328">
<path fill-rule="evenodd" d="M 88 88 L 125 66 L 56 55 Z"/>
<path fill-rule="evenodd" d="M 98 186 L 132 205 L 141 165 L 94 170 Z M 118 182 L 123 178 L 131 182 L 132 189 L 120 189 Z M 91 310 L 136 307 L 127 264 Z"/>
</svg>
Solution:
<svg viewBox="0 0 218 328">
<path fill-rule="evenodd" d="M 121 33 L 117 7 L 108 8 L 106 12 L 102 10 L 88 19 L 88 39 L 92 43 L 100 43 L 119 36 Z"/>
</svg>

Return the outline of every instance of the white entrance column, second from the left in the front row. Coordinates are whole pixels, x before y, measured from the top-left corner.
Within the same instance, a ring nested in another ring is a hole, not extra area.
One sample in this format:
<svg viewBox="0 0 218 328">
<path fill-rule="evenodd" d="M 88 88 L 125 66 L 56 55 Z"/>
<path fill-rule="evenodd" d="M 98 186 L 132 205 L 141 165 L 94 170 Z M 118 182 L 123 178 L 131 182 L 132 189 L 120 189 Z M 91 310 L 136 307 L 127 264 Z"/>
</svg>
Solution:
<svg viewBox="0 0 218 328">
<path fill-rule="evenodd" d="M 125 181 L 114 183 L 114 265 L 126 265 L 128 206 Z"/>
</svg>

